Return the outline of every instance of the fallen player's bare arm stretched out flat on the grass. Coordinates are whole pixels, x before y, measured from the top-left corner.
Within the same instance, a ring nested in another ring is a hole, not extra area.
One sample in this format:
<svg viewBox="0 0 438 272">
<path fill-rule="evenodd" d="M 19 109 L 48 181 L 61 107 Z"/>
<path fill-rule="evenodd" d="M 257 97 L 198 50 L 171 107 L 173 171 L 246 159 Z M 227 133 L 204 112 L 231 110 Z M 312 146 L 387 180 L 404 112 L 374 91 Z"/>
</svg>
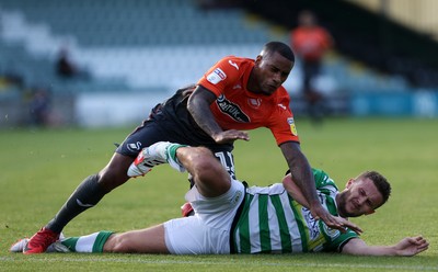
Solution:
<svg viewBox="0 0 438 272">
<path fill-rule="evenodd" d="M 364 240 L 355 238 L 343 248 L 342 253 L 357 256 L 415 256 L 429 247 L 422 236 L 406 237 L 393 246 L 368 246 Z"/>
</svg>

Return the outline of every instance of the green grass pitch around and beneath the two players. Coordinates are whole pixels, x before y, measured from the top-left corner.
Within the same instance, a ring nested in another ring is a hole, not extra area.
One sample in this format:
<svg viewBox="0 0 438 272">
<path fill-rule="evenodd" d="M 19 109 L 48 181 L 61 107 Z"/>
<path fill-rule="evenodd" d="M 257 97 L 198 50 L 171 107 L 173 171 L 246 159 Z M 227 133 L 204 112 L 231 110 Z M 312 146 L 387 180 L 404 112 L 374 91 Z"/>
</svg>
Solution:
<svg viewBox="0 0 438 272">
<path fill-rule="evenodd" d="M 429 250 L 413 258 L 293 256 L 138 256 L 10 253 L 16 239 L 46 224 L 90 173 L 110 160 L 114 145 L 131 131 L 7 129 L 0 132 L 0 271 L 437 271 L 437 120 L 327 120 L 314 127 L 298 121 L 302 150 L 339 188 L 366 169 L 392 183 L 388 204 L 354 219 L 369 245 L 395 243 L 424 235 Z M 250 132 L 235 145 L 237 173 L 250 184 L 278 182 L 287 169 L 267 129 Z M 180 216 L 186 174 L 163 166 L 106 195 L 65 229 L 69 236 L 101 229 L 142 228 Z"/>
</svg>

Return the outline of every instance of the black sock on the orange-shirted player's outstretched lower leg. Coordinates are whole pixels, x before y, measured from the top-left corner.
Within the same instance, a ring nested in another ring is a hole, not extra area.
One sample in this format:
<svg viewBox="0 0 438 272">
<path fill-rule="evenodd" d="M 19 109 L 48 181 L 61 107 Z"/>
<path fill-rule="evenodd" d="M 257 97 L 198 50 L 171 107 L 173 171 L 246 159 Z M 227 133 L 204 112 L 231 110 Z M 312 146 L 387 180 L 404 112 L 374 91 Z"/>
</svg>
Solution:
<svg viewBox="0 0 438 272">
<path fill-rule="evenodd" d="M 55 218 L 47 224 L 46 228 L 59 234 L 71 219 L 97 204 L 107 193 L 97 181 L 97 174 L 85 178 L 59 209 Z"/>
</svg>

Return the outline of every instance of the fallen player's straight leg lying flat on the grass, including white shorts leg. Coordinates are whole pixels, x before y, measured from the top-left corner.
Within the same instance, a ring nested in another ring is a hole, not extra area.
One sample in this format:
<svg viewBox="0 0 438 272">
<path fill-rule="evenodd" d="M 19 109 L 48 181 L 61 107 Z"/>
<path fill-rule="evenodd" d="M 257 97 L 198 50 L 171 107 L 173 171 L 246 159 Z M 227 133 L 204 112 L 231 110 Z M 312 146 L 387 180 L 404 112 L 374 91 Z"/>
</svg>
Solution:
<svg viewBox="0 0 438 272">
<path fill-rule="evenodd" d="M 223 236 L 224 231 L 219 233 Z M 120 234 L 103 230 L 64 238 L 54 242 L 46 252 L 207 253 L 209 251 L 206 251 L 206 246 L 210 242 L 206 237 L 207 234 L 208 228 L 200 218 L 178 218 L 146 229 Z M 228 237 L 223 240 L 223 243 L 228 245 Z"/>
</svg>

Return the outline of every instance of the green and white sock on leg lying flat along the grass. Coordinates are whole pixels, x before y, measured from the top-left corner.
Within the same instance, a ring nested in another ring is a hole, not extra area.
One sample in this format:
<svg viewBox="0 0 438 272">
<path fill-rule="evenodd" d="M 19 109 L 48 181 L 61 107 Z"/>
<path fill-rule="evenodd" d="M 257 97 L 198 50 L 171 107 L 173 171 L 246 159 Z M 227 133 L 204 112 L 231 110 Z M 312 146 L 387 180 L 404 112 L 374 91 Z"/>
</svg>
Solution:
<svg viewBox="0 0 438 272">
<path fill-rule="evenodd" d="M 61 240 L 61 243 L 73 252 L 103 252 L 103 246 L 113 231 L 99 231 L 87 236 L 69 237 Z"/>
</svg>

